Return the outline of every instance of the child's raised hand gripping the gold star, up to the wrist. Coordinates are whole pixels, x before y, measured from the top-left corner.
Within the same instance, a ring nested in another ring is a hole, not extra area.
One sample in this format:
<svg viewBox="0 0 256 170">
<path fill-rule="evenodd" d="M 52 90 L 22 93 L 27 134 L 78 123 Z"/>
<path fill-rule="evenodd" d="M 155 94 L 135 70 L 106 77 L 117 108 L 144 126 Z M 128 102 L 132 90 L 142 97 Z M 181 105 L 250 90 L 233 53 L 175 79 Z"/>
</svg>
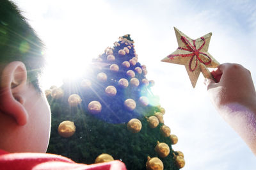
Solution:
<svg viewBox="0 0 256 170">
<path fill-rule="evenodd" d="M 249 70 L 239 64 L 225 63 L 211 73 L 217 82 L 206 79 L 205 85 L 217 109 L 232 103 L 246 107 L 256 105 L 256 92 Z"/>
</svg>

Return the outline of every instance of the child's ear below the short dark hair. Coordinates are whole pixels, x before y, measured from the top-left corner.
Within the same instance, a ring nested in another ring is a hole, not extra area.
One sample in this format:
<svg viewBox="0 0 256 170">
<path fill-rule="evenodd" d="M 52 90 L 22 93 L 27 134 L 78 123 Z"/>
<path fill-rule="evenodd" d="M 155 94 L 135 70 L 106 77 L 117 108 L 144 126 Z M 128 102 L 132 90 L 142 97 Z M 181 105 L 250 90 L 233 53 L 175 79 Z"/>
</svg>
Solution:
<svg viewBox="0 0 256 170">
<path fill-rule="evenodd" d="M 27 86 L 26 66 L 20 61 L 13 61 L 3 69 L 0 93 L 0 111 L 15 118 L 18 125 L 26 125 L 28 112 L 24 107 L 22 92 Z"/>
</svg>

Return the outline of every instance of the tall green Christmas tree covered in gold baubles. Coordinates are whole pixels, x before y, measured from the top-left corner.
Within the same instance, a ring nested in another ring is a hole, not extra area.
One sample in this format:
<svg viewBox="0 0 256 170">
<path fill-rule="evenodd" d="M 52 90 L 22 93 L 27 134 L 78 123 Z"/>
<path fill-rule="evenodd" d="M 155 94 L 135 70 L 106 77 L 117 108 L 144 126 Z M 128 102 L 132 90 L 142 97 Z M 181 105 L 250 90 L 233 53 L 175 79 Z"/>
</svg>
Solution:
<svg viewBox="0 0 256 170">
<path fill-rule="evenodd" d="M 125 35 L 93 59 L 83 77 L 45 91 L 52 111 L 47 152 L 84 164 L 121 160 L 127 169 L 184 167 L 146 74 Z"/>
</svg>

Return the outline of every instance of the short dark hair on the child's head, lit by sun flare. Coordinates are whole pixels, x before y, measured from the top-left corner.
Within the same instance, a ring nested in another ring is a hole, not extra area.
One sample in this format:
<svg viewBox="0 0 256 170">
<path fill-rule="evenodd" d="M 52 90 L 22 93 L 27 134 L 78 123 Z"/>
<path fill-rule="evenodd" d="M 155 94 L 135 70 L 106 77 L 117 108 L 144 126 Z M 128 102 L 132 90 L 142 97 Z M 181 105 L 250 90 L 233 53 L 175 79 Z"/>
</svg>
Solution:
<svg viewBox="0 0 256 170">
<path fill-rule="evenodd" d="M 38 75 L 42 73 L 45 59 L 44 45 L 35 31 L 20 14 L 15 4 L 0 0 L 0 63 L 1 67 L 22 61 L 28 70 L 28 81 L 40 90 Z"/>
</svg>

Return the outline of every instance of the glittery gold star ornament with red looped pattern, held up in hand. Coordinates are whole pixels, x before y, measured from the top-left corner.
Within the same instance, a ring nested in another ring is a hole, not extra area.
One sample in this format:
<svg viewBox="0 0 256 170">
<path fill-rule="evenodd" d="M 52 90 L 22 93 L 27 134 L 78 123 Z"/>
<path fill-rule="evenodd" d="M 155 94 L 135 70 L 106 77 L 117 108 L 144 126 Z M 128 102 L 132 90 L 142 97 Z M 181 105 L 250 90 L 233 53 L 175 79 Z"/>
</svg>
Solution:
<svg viewBox="0 0 256 170">
<path fill-rule="evenodd" d="M 179 31 L 176 27 L 174 27 L 174 30 L 179 47 L 175 52 L 161 61 L 184 65 L 193 88 L 196 86 L 200 72 L 203 73 L 205 78 L 214 79 L 207 67 L 215 68 L 220 65 L 220 63 L 207 52 L 212 33 L 208 33 L 207 35 L 193 40 L 184 35 L 184 33 Z"/>
</svg>

